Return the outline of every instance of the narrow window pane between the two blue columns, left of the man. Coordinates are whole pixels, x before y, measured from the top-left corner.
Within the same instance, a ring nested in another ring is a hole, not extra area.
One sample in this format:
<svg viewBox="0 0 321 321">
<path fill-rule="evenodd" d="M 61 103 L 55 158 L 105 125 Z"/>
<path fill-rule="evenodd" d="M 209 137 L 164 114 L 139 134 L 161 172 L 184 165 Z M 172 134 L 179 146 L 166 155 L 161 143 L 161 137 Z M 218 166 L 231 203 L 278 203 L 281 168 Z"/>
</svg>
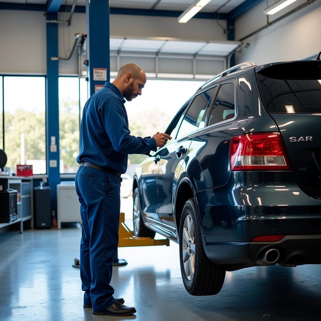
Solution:
<svg viewBox="0 0 321 321">
<path fill-rule="evenodd" d="M 79 78 L 59 77 L 60 173 L 75 173 L 79 164 Z"/>
</svg>

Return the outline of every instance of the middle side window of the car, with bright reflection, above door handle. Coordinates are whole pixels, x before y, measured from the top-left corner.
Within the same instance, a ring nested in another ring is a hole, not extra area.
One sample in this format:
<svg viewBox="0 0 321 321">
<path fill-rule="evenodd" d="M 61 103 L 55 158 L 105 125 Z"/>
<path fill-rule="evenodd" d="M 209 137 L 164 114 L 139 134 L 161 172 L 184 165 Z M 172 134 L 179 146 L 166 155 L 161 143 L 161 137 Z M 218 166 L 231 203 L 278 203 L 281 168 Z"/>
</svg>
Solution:
<svg viewBox="0 0 321 321">
<path fill-rule="evenodd" d="M 215 91 L 216 87 L 204 91 L 194 98 L 179 127 L 177 138 L 183 137 L 198 129 L 201 121 L 204 121 L 206 107 Z"/>
</svg>

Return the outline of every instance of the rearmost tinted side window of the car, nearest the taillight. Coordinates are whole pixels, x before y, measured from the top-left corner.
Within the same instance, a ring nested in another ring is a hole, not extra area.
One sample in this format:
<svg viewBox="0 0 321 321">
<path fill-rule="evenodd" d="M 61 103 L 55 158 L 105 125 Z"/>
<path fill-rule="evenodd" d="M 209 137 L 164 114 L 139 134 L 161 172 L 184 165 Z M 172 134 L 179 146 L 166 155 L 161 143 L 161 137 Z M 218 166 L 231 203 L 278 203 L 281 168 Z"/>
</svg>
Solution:
<svg viewBox="0 0 321 321">
<path fill-rule="evenodd" d="M 235 86 L 234 83 L 224 83 L 213 104 L 208 125 L 220 123 L 235 116 Z"/>
</svg>

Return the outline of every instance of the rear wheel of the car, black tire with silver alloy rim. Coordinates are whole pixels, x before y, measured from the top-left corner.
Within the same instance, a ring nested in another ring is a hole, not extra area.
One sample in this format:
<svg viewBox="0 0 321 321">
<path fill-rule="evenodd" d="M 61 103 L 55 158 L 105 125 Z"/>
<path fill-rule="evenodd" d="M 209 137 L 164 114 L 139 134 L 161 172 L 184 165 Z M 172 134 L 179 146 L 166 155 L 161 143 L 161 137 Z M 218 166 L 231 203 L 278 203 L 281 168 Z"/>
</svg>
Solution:
<svg viewBox="0 0 321 321">
<path fill-rule="evenodd" d="M 183 283 L 189 294 L 214 295 L 221 291 L 226 270 L 205 254 L 194 198 L 185 203 L 182 212 L 179 259 Z"/>
</svg>

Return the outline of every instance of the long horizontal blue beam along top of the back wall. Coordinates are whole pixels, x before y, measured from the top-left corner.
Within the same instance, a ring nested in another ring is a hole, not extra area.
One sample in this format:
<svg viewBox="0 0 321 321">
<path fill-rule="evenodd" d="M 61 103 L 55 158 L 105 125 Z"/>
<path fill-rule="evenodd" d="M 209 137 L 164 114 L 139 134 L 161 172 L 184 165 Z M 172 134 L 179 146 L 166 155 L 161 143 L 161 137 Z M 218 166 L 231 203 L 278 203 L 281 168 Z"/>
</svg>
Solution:
<svg viewBox="0 0 321 321">
<path fill-rule="evenodd" d="M 20 3 L 0 2 L 0 10 L 30 10 L 30 11 L 44 11 L 44 12 L 46 12 L 47 5 L 46 4 L 20 4 Z M 58 11 L 66 12 L 66 6 L 61 5 Z M 76 6 L 74 12 L 85 13 L 86 8 L 84 6 Z M 153 16 L 153 17 L 175 17 L 175 18 L 177 18 L 181 13 L 182 13 L 181 11 L 172 11 L 172 10 L 110 8 L 110 14 L 142 15 L 142 16 Z M 227 14 L 226 13 L 199 12 L 195 15 L 195 18 L 227 20 Z"/>
</svg>

